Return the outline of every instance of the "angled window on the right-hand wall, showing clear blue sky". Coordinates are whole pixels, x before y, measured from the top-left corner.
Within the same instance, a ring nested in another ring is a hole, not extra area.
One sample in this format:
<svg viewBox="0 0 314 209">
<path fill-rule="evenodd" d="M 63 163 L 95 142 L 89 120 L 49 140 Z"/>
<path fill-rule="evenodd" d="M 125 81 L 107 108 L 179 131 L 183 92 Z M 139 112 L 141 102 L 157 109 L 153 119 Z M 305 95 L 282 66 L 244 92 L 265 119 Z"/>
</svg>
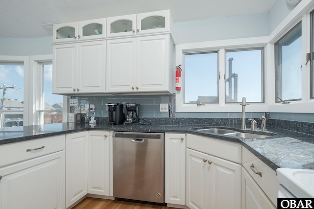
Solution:
<svg viewBox="0 0 314 209">
<path fill-rule="evenodd" d="M 301 23 L 275 43 L 276 102 L 301 100 Z"/>
</svg>

